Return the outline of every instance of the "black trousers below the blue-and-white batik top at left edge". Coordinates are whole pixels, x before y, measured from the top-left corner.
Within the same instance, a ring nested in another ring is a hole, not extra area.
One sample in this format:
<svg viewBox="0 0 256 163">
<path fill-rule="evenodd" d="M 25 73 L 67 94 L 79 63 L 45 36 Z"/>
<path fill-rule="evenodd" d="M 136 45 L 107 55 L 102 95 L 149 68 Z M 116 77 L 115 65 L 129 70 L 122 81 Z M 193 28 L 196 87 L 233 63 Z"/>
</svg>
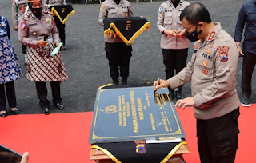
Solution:
<svg viewBox="0 0 256 163">
<path fill-rule="evenodd" d="M 5 93 L 6 87 L 6 93 Z M 6 110 L 6 95 L 10 108 L 14 108 L 17 105 L 14 81 L 6 82 L 5 84 L 0 85 L 0 111 Z"/>
</svg>

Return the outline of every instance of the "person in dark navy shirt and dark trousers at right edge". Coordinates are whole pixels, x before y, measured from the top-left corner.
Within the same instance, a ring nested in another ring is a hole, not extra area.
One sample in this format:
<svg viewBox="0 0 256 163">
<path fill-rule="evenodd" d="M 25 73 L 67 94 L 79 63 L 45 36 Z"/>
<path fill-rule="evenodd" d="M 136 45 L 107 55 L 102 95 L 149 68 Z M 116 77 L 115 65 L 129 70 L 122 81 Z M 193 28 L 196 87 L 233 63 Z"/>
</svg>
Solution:
<svg viewBox="0 0 256 163">
<path fill-rule="evenodd" d="M 246 26 L 245 26 L 246 25 Z M 242 33 L 244 41 L 242 43 Z M 243 106 L 250 106 L 251 79 L 256 65 L 256 0 L 250 0 L 242 4 L 235 26 L 234 40 L 243 57 L 242 61 L 242 101 Z"/>
</svg>

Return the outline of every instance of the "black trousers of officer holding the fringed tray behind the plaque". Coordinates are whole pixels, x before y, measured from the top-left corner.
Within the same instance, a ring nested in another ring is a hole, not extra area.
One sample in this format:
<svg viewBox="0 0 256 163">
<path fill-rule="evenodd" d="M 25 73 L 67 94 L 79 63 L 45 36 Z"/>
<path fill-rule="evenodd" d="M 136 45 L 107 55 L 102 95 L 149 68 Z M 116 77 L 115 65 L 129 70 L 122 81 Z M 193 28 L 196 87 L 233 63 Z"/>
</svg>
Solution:
<svg viewBox="0 0 256 163">
<path fill-rule="evenodd" d="M 128 78 L 132 47 L 127 46 L 124 42 L 105 42 L 105 50 L 110 65 L 110 77 L 118 78 L 120 68 L 120 76 Z"/>
</svg>

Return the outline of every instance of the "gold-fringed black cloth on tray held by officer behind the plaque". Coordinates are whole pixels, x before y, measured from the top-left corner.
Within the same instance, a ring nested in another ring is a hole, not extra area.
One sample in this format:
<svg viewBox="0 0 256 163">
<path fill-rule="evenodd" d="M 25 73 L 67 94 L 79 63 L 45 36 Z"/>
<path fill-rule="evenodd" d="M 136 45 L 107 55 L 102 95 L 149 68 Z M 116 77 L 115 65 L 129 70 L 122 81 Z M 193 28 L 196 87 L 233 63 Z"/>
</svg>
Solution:
<svg viewBox="0 0 256 163">
<path fill-rule="evenodd" d="M 149 30 L 150 22 L 146 18 L 104 18 L 104 35 L 118 35 L 123 42 L 130 45 L 144 30 Z"/>
</svg>

